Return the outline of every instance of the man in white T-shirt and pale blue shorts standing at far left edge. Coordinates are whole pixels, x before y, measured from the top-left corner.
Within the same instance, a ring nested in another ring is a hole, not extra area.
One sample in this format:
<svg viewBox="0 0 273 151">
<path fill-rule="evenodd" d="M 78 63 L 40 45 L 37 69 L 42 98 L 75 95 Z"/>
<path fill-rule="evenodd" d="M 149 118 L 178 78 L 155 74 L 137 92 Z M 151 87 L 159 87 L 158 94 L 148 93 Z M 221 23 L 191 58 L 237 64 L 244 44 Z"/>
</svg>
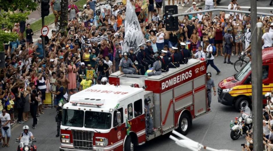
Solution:
<svg viewBox="0 0 273 151">
<path fill-rule="evenodd" d="M 6 109 L 2 109 L 2 114 L 0 114 L 1 119 L 1 133 L 3 137 L 3 146 L 10 147 L 8 142 L 10 141 L 11 132 L 10 132 L 10 114 L 6 113 Z M 7 135 L 7 143 L 5 141 L 5 136 Z"/>
</svg>

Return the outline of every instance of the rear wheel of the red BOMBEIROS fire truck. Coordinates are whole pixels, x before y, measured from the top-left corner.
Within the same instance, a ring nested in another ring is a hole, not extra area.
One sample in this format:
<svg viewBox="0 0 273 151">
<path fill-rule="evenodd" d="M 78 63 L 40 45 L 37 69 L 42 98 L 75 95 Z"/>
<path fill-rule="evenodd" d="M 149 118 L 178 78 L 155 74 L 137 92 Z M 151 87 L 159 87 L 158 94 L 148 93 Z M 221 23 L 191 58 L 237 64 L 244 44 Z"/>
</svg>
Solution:
<svg viewBox="0 0 273 151">
<path fill-rule="evenodd" d="M 191 127 L 191 118 L 188 116 L 188 114 L 182 113 L 182 115 L 179 118 L 179 127 L 178 127 L 179 133 L 183 135 L 187 135 L 190 127 Z"/>
</svg>

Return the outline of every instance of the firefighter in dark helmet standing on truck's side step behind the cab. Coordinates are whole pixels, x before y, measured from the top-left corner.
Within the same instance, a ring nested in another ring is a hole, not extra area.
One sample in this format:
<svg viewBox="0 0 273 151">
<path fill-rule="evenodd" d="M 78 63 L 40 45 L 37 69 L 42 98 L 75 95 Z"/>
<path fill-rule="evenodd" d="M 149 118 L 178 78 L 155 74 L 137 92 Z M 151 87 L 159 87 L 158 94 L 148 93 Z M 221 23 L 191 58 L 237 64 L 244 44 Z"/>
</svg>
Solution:
<svg viewBox="0 0 273 151">
<path fill-rule="evenodd" d="M 150 115 L 150 105 L 149 103 L 151 102 L 150 97 L 145 98 L 144 100 L 144 108 L 145 108 L 145 130 L 146 130 L 146 135 L 154 134 L 154 125 L 152 122 L 152 117 Z"/>
</svg>

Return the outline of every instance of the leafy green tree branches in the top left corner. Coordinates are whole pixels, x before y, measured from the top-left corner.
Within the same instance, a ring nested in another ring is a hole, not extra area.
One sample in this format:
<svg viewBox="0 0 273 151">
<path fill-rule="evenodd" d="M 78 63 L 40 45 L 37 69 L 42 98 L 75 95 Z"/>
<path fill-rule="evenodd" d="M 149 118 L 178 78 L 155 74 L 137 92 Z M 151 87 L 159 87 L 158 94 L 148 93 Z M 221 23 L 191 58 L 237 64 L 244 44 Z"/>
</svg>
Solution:
<svg viewBox="0 0 273 151">
<path fill-rule="evenodd" d="M 36 10 L 37 3 L 32 0 L 1 0 L 0 3 L 0 24 L 4 25 L 4 28 L 12 30 L 15 23 L 20 21 L 26 21 L 28 19 L 29 11 Z M 2 11 L 4 10 L 4 11 Z M 18 13 L 15 11 L 19 10 Z M 12 12 L 12 13 L 10 13 Z M 4 51 L 3 43 L 9 41 L 15 41 L 18 39 L 17 33 L 5 33 L 4 30 L 0 30 L 0 52 Z"/>
</svg>

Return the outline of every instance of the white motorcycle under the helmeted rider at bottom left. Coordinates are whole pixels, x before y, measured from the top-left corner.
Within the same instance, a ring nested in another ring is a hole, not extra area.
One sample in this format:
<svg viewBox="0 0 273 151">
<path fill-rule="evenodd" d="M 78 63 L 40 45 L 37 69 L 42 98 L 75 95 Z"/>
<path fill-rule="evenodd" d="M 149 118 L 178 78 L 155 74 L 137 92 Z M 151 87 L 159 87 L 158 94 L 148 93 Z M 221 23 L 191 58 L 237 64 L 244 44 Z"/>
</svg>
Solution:
<svg viewBox="0 0 273 151">
<path fill-rule="evenodd" d="M 23 136 L 20 140 L 16 139 L 16 142 L 20 143 L 18 148 L 20 151 L 37 151 L 37 146 L 33 145 L 33 142 L 36 142 L 35 138 L 31 140 L 30 136 L 26 135 Z"/>
</svg>

